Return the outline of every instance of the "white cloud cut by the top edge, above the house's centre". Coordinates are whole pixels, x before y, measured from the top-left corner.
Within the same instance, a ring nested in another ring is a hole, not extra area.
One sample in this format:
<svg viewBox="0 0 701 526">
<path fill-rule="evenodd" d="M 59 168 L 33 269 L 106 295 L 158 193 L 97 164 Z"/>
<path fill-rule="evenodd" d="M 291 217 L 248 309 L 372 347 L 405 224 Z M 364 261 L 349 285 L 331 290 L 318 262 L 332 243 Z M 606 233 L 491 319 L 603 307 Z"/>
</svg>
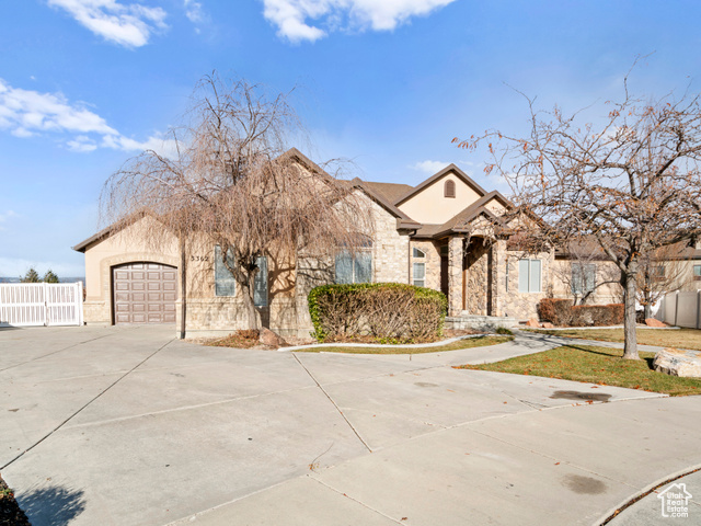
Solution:
<svg viewBox="0 0 701 526">
<path fill-rule="evenodd" d="M 263 0 L 263 15 L 290 42 L 314 42 L 347 20 L 349 27 L 392 31 L 455 0 Z M 311 25 L 308 21 L 317 21 Z"/>
</svg>

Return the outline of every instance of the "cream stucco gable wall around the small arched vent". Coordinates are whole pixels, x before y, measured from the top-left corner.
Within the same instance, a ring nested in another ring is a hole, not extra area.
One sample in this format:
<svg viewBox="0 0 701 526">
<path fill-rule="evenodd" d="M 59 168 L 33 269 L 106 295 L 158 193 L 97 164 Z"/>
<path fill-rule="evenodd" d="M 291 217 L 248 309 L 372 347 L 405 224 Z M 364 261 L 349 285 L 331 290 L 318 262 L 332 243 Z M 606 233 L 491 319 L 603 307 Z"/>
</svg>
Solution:
<svg viewBox="0 0 701 526">
<path fill-rule="evenodd" d="M 456 196 L 444 195 L 446 181 L 456 184 Z M 399 205 L 399 209 L 415 221 L 425 225 L 443 225 L 455 215 L 462 211 L 481 196 L 466 184 L 466 182 L 452 172 L 434 181 L 418 194 Z"/>
</svg>

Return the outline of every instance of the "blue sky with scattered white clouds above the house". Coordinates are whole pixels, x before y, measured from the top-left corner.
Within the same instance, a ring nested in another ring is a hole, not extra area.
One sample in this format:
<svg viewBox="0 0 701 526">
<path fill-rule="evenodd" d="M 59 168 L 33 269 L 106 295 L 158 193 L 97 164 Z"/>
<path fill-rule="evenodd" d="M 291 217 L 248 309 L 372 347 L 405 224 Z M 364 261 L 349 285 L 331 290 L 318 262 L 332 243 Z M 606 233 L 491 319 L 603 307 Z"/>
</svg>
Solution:
<svg viewBox="0 0 701 526">
<path fill-rule="evenodd" d="M 70 247 L 100 227 L 105 179 L 159 148 L 198 79 L 218 70 L 276 91 L 315 161 L 417 184 L 450 140 L 524 133 L 527 106 L 574 111 L 621 94 L 701 91 L 698 1 L 22 0 L 0 5 L 0 275 L 83 275 Z M 508 85 L 507 85 L 508 84 Z"/>
</svg>

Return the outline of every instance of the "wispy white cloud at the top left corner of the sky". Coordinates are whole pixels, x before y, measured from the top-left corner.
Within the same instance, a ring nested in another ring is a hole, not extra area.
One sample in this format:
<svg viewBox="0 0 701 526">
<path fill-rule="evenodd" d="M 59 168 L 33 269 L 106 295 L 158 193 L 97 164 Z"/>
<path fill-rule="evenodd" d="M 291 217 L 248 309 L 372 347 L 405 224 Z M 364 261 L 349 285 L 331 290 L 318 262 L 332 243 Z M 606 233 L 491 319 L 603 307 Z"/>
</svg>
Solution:
<svg viewBox="0 0 701 526">
<path fill-rule="evenodd" d="M 140 47 L 151 33 L 166 27 L 165 11 L 140 3 L 122 4 L 117 0 L 48 0 L 67 11 L 81 25 L 104 39 L 125 47 Z"/>
</svg>

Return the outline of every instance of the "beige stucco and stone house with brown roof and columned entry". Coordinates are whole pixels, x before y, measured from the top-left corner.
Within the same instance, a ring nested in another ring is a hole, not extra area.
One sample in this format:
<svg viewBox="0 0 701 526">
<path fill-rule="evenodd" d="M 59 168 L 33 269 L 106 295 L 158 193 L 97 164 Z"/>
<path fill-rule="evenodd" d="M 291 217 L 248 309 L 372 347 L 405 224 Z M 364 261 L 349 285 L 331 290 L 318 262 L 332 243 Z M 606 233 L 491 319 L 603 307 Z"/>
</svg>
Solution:
<svg viewBox="0 0 701 526">
<path fill-rule="evenodd" d="M 286 156 L 323 173 L 296 149 Z M 538 301 L 551 288 L 554 251 L 526 253 L 496 233 L 509 207 L 501 193 L 482 188 L 455 164 L 416 186 L 359 179 L 349 184 L 367 199 L 372 239 L 355 254 L 340 251 L 326 262 L 325 274 L 304 258 L 262 258 L 255 305 L 265 325 L 283 335 L 307 335 L 307 294 L 320 275 L 340 283 L 399 282 L 441 290 L 455 318 L 536 316 Z M 151 245 L 148 232 L 154 228 L 158 221 L 145 215 L 73 248 L 85 255 L 88 323 L 177 321 L 181 253 L 175 238 Z M 221 255 L 218 247 L 197 240 L 185 254 L 191 335 L 245 327 L 241 298 Z"/>
</svg>

